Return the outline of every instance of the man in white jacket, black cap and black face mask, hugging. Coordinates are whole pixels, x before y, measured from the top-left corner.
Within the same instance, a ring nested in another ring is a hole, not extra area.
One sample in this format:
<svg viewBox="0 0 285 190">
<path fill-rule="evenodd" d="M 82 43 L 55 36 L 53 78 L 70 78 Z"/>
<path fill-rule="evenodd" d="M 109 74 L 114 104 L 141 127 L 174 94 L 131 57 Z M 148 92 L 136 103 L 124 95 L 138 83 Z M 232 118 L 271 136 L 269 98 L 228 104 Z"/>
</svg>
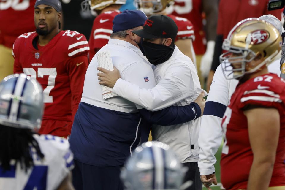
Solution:
<svg viewBox="0 0 285 190">
<path fill-rule="evenodd" d="M 203 90 L 191 59 L 174 45 L 177 35 L 175 22 L 165 15 L 152 15 L 146 20 L 142 30 L 133 33 L 143 38 L 145 56 L 155 67 L 156 86 L 142 89 L 119 79 L 116 69 L 106 71 L 102 68 L 99 70 L 105 73 L 97 74 L 101 80 L 99 84 L 113 88 L 113 93 L 151 111 L 193 102 Z M 194 184 L 188 188 L 191 190 L 202 189 L 197 165 L 199 128 L 199 118 L 178 125 L 152 126 L 153 139 L 168 144 L 178 155 L 180 162 L 189 168 L 184 181 L 193 181 Z"/>
</svg>

